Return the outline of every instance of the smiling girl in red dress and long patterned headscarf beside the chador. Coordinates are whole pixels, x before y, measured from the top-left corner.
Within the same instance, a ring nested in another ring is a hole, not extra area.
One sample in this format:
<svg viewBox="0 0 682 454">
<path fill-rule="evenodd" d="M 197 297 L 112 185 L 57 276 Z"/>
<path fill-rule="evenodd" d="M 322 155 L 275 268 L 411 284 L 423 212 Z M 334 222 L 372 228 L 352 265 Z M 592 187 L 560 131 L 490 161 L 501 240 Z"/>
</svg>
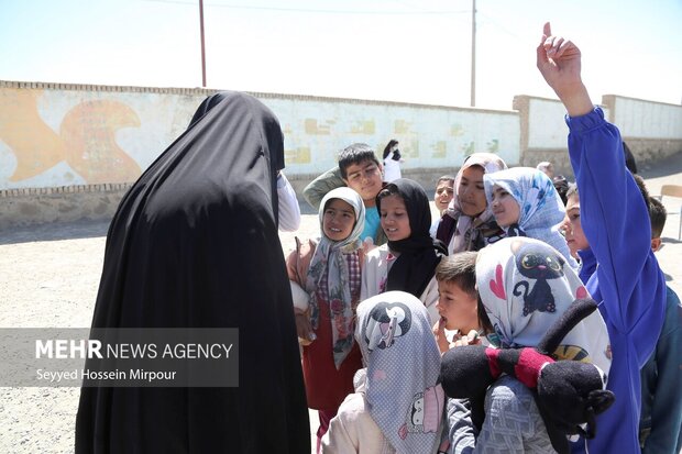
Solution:
<svg viewBox="0 0 682 454">
<path fill-rule="evenodd" d="M 362 198 L 350 188 L 337 188 L 320 203 L 321 237 L 300 244 L 287 258 L 296 329 L 302 346 L 308 407 L 318 410 L 319 441 L 353 392 L 353 375 L 362 367 L 353 340 L 355 307 L 360 302 L 360 234 L 364 229 Z"/>
</svg>

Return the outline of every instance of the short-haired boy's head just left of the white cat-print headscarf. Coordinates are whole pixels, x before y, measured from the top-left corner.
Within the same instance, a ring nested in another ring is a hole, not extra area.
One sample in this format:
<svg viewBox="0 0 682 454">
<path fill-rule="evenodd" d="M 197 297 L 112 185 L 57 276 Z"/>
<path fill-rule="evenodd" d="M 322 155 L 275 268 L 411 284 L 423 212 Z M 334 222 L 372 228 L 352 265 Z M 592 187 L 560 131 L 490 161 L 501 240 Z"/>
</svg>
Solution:
<svg viewBox="0 0 682 454">
<path fill-rule="evenodd" d="M 457 345 L 479 343 L 482 331 L 493 331 L 483 306 L 479 304 L 477 255 L 477 252 L 461 252 L 447 256 L 436 268 L 439 294 L 436 308 L 440 319 L 433 324 L 433 334 L 440 353 Z M 452 341 L 448 340 L 446 330 L 457 331 Z"/>
</svg>

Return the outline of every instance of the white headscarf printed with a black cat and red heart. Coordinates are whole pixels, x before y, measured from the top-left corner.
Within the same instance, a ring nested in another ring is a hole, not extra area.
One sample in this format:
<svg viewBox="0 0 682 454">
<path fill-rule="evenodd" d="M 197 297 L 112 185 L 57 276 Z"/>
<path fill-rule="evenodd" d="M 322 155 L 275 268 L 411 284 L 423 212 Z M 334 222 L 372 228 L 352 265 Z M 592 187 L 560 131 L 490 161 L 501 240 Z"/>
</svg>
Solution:
<svg viewBox="0 0 682 454">
<path fill-rule="evenodd" d="M 503 239 L 479 252 L 476 284 L 495 329 L 491 343 L 536 346 L 576 299 L 590 298 L 564 257 L 538 240 Z M 554 352 L 559 359 L 586 361 L 608 374 L 608 333 L 598 311 L 583 319 Z"/>
</svg>

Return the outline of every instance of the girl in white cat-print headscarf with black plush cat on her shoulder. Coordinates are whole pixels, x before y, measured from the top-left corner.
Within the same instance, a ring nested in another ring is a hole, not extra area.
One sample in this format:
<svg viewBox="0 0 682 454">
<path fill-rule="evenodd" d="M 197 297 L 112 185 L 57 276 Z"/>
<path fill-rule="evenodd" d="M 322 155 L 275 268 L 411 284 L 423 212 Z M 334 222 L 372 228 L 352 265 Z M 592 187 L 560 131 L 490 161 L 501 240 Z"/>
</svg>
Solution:
<svg viewBox="0 0 682 454">
<path fill-rule="evenodd" d="M 499 348 L 538 346 L 576 300 L 591 298 L 557 250 L 522 236 L 503 239 L 479 252 L 476 286 L 494 329 L 487 339 Z M 600 312 L 579 321 L 549 355 L 556 361 L 592 363 L 607 376 L 609 339 Z M 540 412 L 526 385 L 510 376 L 503 375 L 487 389 L 485 419 L 477 435 L 471 413 L 461 402 L 450 401 L 448 416 L 453 452 L 465 446 L 491 453 L 554 452 L 556 440 L 544 423 L 547 414 Z"/>
</svg>

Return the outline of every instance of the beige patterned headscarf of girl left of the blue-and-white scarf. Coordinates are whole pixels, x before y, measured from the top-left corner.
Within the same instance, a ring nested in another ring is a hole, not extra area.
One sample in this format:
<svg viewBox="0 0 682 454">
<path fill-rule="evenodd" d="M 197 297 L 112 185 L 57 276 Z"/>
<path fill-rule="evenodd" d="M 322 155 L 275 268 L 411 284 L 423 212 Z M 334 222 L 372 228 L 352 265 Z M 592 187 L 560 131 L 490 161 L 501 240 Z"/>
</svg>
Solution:
<svg viewBox="0 0 682 454">
<path fill-rule="evenodd" d="M 452 221 L 447 222 L 443 228 L 446 228 L 450 222 L 455 223 L 454 245 L 452 251 L 449 251 L 450 254 L 470 251 L 471 245 L 475 244 L 481 235 L 481 231 L 491 229 L 493 226 L 492 224 L 495 224 L 495 219 L 490 209 L 490 204 L 475 218 L 469 217 L 462 212 L 459 201 L 460 181 L 462 180 L 462 174 L 464 170 L 472 166 L 482 167 L 485 175 L 507 168 L 505 162 L 499 156 L 492 153 L 474 153 L 464 159 L 464 164 L 462 164 L 462 167 L 454 177 L 454 197 L 446 210 L 447 217 L 443 217 L 443 221 L 441 221 L 441 223 L 443 223 L 448 218 L 452 219 Z M 439 233 L 440 232 L 441 229 L 439 229 Z M 447 239 L 441 234 L 438 235 L 438 239 L 447 244 L 450 244 L 450 239 Z"/>
</svg>

